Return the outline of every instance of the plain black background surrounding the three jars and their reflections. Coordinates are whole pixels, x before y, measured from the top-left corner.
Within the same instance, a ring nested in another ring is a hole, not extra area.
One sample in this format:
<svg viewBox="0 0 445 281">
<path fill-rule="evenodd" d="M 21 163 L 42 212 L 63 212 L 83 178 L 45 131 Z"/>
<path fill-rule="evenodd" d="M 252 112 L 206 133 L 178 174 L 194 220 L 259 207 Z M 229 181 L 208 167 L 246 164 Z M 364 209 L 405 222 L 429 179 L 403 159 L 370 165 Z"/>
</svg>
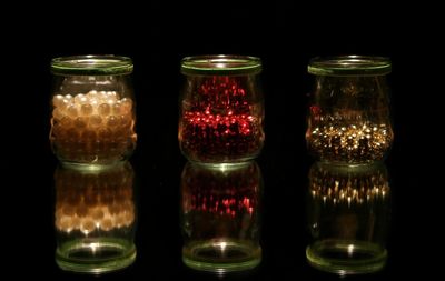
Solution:
<svg viewBox="0 0 445 281">
<path fill-rule="evenodd" d="M 186 163 L 177 143 L 182 57 L 236 53 L 260 57 L 266 102 L 266 145 L 258 159 L 265 180 L 263 263 L 243 279 L 327 280 L 306 263 L 307 174 L 313 160 L 305 143 L 310 58 L 325 54 L 389 57 L 395 141 L 386 160 L 393 188 L 389 258 L 384 271 L 359 280 L 432 274 L 439 252 L 441 73 L 434 61 L 437 18 L 418 7 L 389 8 L 268 4 L 220 1 L 211 7 L 149 2 L 146 6 L 72 2 L 39 7 L 23 24 L 6 30 L 8 91 L 2 137 L 4 272 L 55 280 L 89 279 L 55 263 L 53 171 L 49 101 L 53 57 L 115 53 L 134 59 L 138 147 L 138 257 L 130 268 L 99 279 L 196 280 L 215 277 L 181 263 L 179 180 Z M 425 19 L 421 19 L 425 17 Z M 14 24 L 17 20 L 10 24 Z M 12 87 L 11 87 L 12 86 Z M 8 92 L 10 94 L 8 94 Z M 17 107 L 14 106 L 17 104 Z M 11 179 L 11 180 L 9 180 Z M 9 191 L 12 191 L 9 194 Z M 443 221 L 443 219 L 442 219 Z M 433 251 L 432 251 L 433 250 Z M 17 270 L 17 268 L 22 270 Z M 96 278 L 93 278 L 96 279 Z"/>
</svg>

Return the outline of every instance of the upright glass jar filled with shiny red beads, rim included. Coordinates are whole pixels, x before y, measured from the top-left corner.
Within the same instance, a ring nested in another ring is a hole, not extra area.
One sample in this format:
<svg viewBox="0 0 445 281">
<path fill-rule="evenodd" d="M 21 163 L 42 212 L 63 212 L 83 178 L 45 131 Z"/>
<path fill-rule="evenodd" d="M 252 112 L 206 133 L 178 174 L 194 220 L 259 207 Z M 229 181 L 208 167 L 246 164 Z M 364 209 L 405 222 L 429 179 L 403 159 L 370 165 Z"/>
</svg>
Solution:
<svg viewBox="0 0 445 281">
<path fill-rule="evenodd" d="M 265 139 L 259 58 L 184 58 L 179 145 L 190 161 L 236 163 L 256 158 Z"/>
</svg>

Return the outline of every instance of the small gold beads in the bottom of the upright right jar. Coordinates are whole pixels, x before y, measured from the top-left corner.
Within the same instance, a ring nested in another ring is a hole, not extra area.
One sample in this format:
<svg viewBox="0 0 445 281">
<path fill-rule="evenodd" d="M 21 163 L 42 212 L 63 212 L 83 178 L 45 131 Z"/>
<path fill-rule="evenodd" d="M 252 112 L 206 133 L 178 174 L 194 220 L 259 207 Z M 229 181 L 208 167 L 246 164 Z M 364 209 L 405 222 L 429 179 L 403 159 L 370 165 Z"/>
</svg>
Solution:
<svg viewBox="0 0 445 281">
<path fill-rule="evenodd" d="M 370 162 L 383 160 L 393 141 L 385 123 L 369 121 L 326 121 L 309 128 L 306 134 L 309 150 L 322 160 L 338 162 Z"/>
</svg>

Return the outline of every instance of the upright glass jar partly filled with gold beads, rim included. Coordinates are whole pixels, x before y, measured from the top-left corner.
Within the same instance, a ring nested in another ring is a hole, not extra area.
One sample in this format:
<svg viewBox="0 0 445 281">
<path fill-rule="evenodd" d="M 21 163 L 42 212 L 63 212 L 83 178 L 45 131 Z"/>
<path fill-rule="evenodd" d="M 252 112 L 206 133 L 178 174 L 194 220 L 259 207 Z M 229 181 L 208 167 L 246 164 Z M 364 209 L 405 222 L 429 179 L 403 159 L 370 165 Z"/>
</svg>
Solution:
<svg viewBox="0 0 445 281">
<path fill-rule="evenodd" d="M 383 160 L 393 142 L 389 59 L 315 58 L 308 71 L 316 76 L 306 132 L 309 150 L 323 161 Z"/>
</svg>

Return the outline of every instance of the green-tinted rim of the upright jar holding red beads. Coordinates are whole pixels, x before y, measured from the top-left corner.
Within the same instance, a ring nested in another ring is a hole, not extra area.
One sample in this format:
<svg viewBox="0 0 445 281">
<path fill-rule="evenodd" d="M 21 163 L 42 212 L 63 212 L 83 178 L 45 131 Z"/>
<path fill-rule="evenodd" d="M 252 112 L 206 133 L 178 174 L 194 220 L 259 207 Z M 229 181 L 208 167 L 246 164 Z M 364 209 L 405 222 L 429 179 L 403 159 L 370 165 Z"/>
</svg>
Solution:
<svg viewBox="0 0 445 281">
<path fill-rule="evenodd" d="M 181 60 L 182 74 L 256 74 L 261 71 L 261 59 L 249 56 L 208 54 Z"/>
</svg>

